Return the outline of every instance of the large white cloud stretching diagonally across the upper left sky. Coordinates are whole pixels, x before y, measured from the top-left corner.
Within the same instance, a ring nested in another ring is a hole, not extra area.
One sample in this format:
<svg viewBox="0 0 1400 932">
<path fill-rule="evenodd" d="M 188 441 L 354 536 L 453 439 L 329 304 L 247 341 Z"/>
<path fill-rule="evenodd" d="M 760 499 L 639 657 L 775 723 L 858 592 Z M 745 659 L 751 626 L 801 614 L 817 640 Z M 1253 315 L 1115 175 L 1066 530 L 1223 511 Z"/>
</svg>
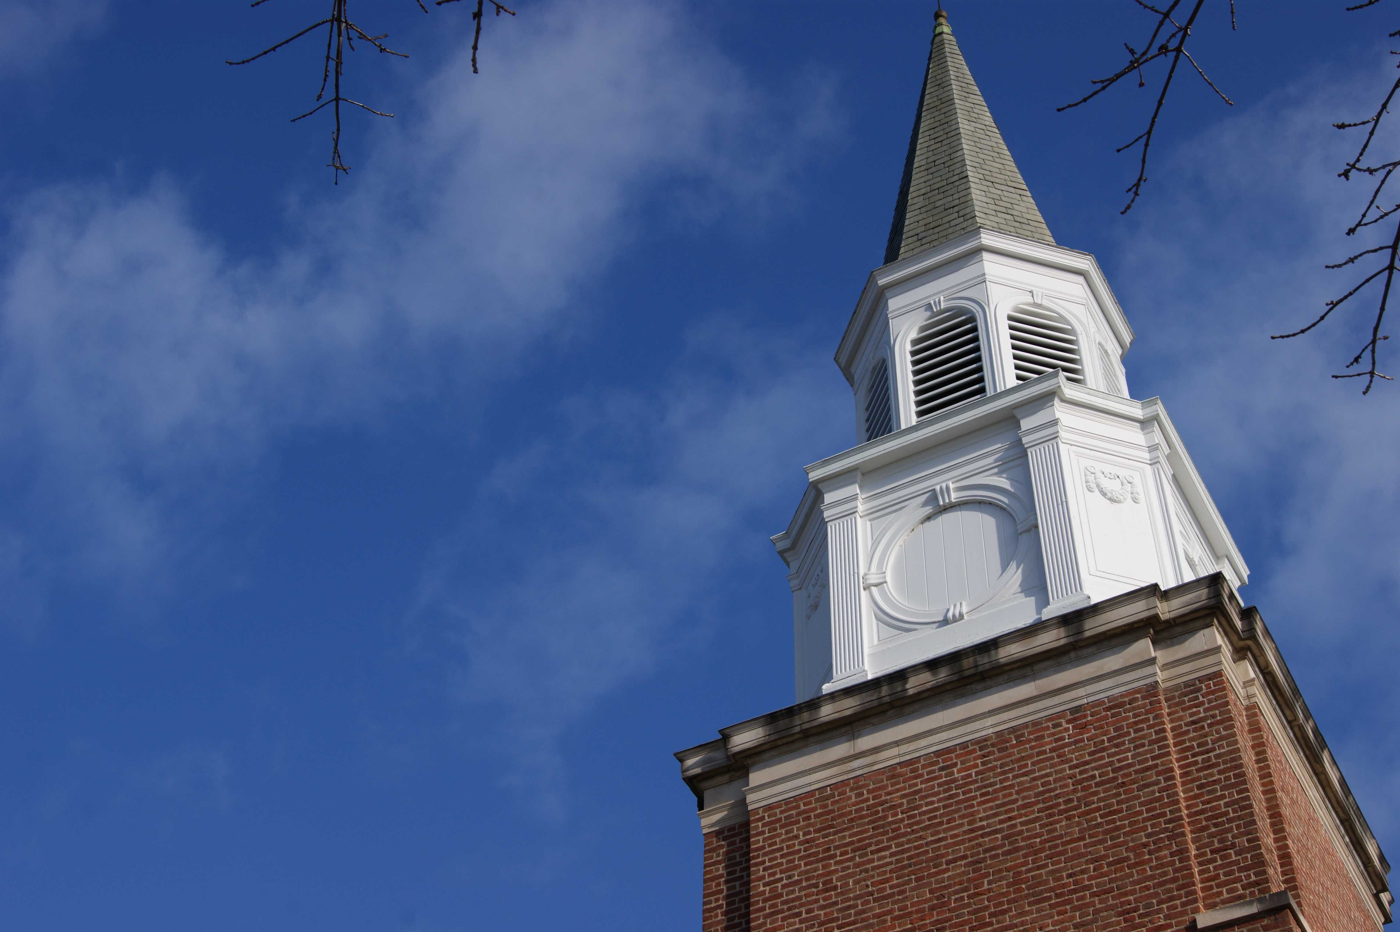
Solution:
<svg viewBox="0 0 1400 932">
<path fill-rule="evenodd" d="M 587 327 L 596 309 L 561 309 L 662 183 L 743 210 L 781 196 L 820 105 L 780 106 L 676 8 L 622 3 L 533 8 L 479 78 L 455 55 L 427 116 L 272 259 L 223 243 L 169 179 L 14 199 L 0 480 L 29 511 L 8 550 L 148 585 L 281 431 L 512 376 L 532 341 Z"/>
</svg>

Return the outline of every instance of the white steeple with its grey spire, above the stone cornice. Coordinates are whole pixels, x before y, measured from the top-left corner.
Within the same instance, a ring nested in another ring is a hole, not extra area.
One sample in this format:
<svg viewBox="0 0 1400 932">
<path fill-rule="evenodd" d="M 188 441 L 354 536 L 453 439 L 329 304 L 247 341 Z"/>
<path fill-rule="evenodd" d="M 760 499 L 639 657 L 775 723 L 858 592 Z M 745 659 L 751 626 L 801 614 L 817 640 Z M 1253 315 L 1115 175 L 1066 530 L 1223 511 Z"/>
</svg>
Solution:
<svg viewBox="0 0 1400 932">
<path fill-rule="evenodd" d="M 1214 572 L 1249 578 L 1093 256 L 1054 242 L 939 14 L 885 264 L 836 351 L 857 446 L 773 542 L 798 698 Z"/>
</svg>

